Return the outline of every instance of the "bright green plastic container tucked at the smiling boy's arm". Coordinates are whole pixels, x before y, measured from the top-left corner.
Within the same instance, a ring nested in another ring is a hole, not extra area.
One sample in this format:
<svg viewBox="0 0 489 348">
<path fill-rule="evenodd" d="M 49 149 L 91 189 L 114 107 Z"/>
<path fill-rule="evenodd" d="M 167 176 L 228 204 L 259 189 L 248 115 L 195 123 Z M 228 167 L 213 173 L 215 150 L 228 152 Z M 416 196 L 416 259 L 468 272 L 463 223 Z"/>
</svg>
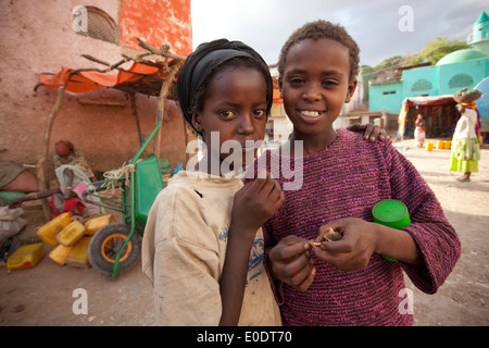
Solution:
<svg viewBox="0 0 489 348">
<path fill-rule="evenodd" d="M 402 228 L 411 224 L 408 207 L 399 200 L 386 199 L 372 209 L 374 222 L 392 228 Z"/>
</svg>

